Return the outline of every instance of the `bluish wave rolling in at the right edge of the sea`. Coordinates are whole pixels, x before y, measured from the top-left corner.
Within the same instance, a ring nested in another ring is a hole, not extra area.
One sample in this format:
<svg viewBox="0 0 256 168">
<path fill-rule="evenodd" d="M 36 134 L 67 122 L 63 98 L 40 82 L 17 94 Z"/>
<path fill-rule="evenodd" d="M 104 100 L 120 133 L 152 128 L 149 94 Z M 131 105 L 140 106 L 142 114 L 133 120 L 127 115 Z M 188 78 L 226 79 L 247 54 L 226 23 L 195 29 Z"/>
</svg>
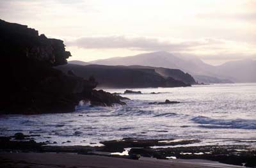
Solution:
<svg viewBox="0 0 256 168">
<path fill-rule="evenodd" d="M 238 128 L 238 129 L 256 129 L 255 119 L 213 119 L 204 116 L 197 116 L 191 119 L 196 123 L 202 124 L 204 128 Z"/>
</svg>

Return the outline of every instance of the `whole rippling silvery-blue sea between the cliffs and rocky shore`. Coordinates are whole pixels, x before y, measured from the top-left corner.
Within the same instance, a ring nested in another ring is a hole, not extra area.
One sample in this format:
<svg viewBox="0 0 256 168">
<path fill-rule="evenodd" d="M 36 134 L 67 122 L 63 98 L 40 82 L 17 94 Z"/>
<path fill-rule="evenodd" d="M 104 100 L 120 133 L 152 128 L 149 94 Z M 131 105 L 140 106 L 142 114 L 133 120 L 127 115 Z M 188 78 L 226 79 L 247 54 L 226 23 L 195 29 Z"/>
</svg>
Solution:
<svg viewBox="0 0 256 168">
<path fill-rule="evenodd" d="M 106 89 L 124 93 L 125 89 Z M 256 146 L 256 84 L 212 84 L 188 88 L 147 88 L 126 94 L 127 105 L 78 107 L 68 114 L 0 116 L 1 135 L 40 134 L 36 141 L 59 145 L 97 146 L 100 141 L 140 139 L 202 139 L 195 145 Z M 159 94 L 150 94 L 152 92 Z M 148 104 L 179 101 L 178 104 Z M 62 142 L 71 141 L 62 144 Z"/>
</svg>

